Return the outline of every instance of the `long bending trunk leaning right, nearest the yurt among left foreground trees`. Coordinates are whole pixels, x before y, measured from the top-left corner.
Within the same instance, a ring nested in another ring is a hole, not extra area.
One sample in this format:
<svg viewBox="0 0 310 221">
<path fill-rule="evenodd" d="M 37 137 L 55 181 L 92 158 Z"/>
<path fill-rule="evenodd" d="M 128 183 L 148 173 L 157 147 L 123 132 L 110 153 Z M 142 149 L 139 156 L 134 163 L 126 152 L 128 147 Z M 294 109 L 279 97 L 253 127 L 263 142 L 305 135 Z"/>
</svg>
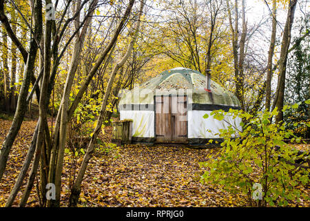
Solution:
<svg viewBox="0 0 310 221">
<path fill-rule="evenodd" d="M 113 85 L 114 79 L 116 77 L 116 73 L 118 72 L 118 69 L 121 68 L 125 64 L 125 61 L 127 61 L 128 57 L 130 57 L 130 54 L 132 52 L 132 48 L 134 48 L 134 43 L 136 41 L 136 38 L 138 37 L 138 30 L 140 28 L 140 23 L 141 23 L 140 19 L 141 19 L 141 15 L 143 12 L 143 6 L 144 6 L 144 3 L 143 3 L 143 1 L 141 1 L 141 6 L 140 6 L 140 11 L 139 11 L 139 16 L 138 16 L 138 22 L 136 23 L 134 37 L 132 38 L 132 41 L 130 42 L 130 45 L 128 46 L 124 57 L 121 59 L 121 61 L 118 64 L 116 64 L 116 66 L 114 66 L 114 68 L 112 70 L 112 74 L 110 76 L 110 80 L 109 80 L 109 83 L 107 84 L 107 88 L 105 90 L 105 95 L 103 97 L 103 102 L 101 105 L 101 111 L 100 111 L 99 118 L 98 118 L 98 121 L 96 124 L 96 128 L 94 129 L 92 138 L 90 140 L 90 144 L 88 144 L 87 151 L 83 157 L 83 162 L 81 164 L 81 167 L 79 169 L 79 173 L 76 177 L 76 181 L 74 182 L 74 185 L 72 188 L 72 193 L 70 195 L 70 206 L 76 206 L 76 204 L 78 203 L 79 195 L 81 193 L 81 183 L 83 181 L 83 177 L 84 177 L 84 174 L 85 174 L 85 171 L 87 168 L 87 164 L 92 157 L 92 153 L 94 152 L 94 143 L 95 143 L 95 141 L 96 141 L 96 139 L 100 133 L 101 126 L 103 124 L 105 108 L 107 106 L 107 99 L 110 96 L 110 93 L 112 90 L 112 85 Z"/>
</svg>

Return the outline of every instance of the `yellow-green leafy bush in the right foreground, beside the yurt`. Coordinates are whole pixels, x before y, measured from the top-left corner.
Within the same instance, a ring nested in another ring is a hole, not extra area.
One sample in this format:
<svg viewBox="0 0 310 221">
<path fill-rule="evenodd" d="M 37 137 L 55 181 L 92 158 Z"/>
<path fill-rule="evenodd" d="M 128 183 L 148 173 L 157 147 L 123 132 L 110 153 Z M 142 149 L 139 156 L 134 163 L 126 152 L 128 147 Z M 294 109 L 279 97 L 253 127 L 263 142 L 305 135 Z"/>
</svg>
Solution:
<svg viewBox="0 0 310 221">
<path fill-rule="evenodd" d="M 291 142 L 300 142 L 300 137 L 285 131 L 285 124 L 271 122 L 277 113 L 274 110 L 253 116 L 236 110 L 213 111 L 214 119 L 225 121 L 225 115 L 233 115 L 249 123 L 241 123 L 242 131 L 233 125 L 220 130 L 223 148 L 216 159 L 210 156 L 207 162 L 200 163 L 207 167 L 201 182 L 218 184 L 231 193 L 244 193 L 250 206 L 287 206 L 291 200 L 309 200 L 300 190 L 309 184 L 309 169 L 296 166 L 305 155 L 298 155 L 283 141 L 290 138 Z"/>
</svg>

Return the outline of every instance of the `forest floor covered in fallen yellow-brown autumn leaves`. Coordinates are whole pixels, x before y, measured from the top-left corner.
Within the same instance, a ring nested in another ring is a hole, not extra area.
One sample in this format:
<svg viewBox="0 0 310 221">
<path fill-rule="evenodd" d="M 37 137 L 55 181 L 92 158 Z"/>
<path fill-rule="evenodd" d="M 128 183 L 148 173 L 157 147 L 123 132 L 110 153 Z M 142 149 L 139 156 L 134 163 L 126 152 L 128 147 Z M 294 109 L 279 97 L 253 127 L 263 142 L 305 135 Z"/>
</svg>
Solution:
<svg viewBox="0 0 310 221">
<path fill-rule="evenodd" d="M 23 122 L 12 146 L 0 183 L 0 206 L 5 205 L 19 175 L 36 123 L 33 120 Z M 0 119 L 0 144 L 10 124 L 9 120 Z M 106 127 L 101 140 L 108 144 L 111 133 L 112 128 Z M 309 151 L 309 145 L 298 147 Z M 96 148 L 82 183 L 79 206 L 249 206 L 245 195 L 230 194 L 199 182 L 203 169 L 198 162 L 206 161 L 210 154 L 218 151 L 219 148 L 142 144 L 114 147 L 109 153 L 105 148 Z M 70 152 L 65 153 L 64 160 L 61 206 L 68 205 L 70 180 L 74 171 L 76 175 L 83 155 L 75 157 Z M 310 194 L 309 188 L 302 191 Z M 14 206 L 18 205 L 21 194 L 17 195 Z M 32 189 L 27 206 L 39 206 L 36 188 Z M 289 206 L 310 206 L 310 202 L 301 199 L 298 203 L 290 202 Z"/>
</svg>

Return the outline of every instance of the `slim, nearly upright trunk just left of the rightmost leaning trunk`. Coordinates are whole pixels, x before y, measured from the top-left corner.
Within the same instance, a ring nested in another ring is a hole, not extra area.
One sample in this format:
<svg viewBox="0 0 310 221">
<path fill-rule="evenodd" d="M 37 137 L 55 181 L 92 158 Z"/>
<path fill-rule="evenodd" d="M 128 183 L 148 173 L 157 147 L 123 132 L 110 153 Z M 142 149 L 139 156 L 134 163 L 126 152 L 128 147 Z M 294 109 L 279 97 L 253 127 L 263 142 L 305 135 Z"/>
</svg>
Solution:
<svg viewBox="0 0 310 221">
<path fill-rule="evenodd" d="M 271 79 L 272 79 L 272 58 L 274 47 L 276 44 L 276 11 L 277 11 L 277 2 L 276 0 L 272 1 L 272 31 L 271 31 L 271 40 L 269 46 L 269 53 L 268 53 L 268 64 L 267 64 L 267 79 L 266 79 L 266 103 L 265 109 L 269 111 L 270 108 L 270 101 L 271 101 Z"/>
</svg>

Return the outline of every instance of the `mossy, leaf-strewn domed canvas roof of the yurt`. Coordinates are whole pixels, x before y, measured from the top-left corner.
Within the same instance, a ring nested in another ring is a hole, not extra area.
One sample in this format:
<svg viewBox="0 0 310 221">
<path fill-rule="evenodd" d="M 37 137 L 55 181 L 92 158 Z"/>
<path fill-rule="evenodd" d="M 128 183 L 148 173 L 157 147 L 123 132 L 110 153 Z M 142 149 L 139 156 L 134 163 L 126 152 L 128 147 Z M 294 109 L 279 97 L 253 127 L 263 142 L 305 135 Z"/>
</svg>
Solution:
<svg viewBox="0 0 310 221">
<path fill-rule="evenodd" d="M 240 106 L 236 96 L 212 80 L 211 93 L 208 93 L 205 90 L 205 80 L 205 75 L 197 70 L 189 68 L 165 70 L 141 84 L 139 90 L 133 89 L 130 93 L 125 93 L 120 104 L 154 104 L 154 95 L 176 95 L 178 91 L 183 90 L 187 97 L 191 98 L 189 104 Z M 138 91 L 139 95 L 136 95 Z"/>
</svg>

